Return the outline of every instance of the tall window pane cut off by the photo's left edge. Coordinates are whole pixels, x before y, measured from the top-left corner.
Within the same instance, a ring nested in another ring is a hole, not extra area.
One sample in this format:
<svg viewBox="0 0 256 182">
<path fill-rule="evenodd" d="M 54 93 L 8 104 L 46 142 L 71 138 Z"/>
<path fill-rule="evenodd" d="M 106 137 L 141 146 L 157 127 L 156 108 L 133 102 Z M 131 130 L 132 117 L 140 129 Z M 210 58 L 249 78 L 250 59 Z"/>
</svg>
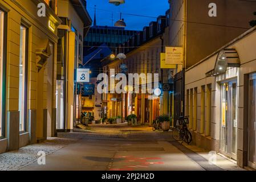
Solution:
<svg viewBox="0 0 256 182">
<path fill-rule="evenodd" d="M 5 13 L 0 10 L 0 138 L 5 137 Z"/>
</svg>

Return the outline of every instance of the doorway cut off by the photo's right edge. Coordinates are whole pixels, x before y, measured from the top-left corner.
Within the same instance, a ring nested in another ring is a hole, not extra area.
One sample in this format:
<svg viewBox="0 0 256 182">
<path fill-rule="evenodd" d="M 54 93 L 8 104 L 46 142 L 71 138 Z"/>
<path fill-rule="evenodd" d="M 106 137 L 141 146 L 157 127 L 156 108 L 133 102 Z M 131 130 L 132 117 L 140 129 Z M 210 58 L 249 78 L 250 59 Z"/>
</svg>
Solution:
<svg viewBox="0 0 256 182">
<path fill-rule="evenodd" d="M 250 76 L 250 88 L 249 88 L 249 147 L 248 147 L 248 166 L 256 169 L 256 74 Z"/>
</svg>

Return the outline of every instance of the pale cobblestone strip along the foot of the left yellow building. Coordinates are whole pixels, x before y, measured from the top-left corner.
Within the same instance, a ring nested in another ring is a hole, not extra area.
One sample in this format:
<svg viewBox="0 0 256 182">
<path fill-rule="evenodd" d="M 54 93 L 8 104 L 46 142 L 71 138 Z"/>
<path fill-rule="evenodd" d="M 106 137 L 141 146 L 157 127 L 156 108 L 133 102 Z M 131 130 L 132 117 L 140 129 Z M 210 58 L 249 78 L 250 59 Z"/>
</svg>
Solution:
<svg viewBox="0 0 256 182">
<path fill-rule="evenodd" d="M 71 142 L 74 142 L 74 140 L 48 138 L 46 142 L 31 144 L 19 148 L 18 151 L 0 154 L 0 171 L 16 171 L 26 167 L 38 159 L 39 156 L 37 154 L 39 151 L 44 151 L 46 155 L 49 155 Z"/>
</svg>

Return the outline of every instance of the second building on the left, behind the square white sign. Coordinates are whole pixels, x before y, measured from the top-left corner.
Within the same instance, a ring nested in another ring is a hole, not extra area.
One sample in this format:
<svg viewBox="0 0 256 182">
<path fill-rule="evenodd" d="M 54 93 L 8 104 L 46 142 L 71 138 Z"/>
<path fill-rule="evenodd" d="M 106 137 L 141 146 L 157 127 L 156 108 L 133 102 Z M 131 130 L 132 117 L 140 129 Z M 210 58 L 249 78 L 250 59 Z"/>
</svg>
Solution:
<svg viewBox="0 0 256 182">
<path fill-rule="evenodd" d="M 85 0 L 59 0 L 56 129 L 70 131 L 81 122 L 82 96 L 74 73 L 83 64 L 83 39 L 92 20 Z"/>
</svg>

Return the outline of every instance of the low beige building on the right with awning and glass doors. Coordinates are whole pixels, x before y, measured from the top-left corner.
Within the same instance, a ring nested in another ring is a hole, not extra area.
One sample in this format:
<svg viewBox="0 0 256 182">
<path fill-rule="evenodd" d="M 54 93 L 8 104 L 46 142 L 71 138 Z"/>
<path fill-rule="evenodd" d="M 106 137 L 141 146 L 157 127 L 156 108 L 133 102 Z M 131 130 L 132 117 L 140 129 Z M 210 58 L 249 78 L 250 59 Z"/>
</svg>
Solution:
<svg viewBox="0 0 256 182">
<path fill-rule="evenodd" d="M 193 118 L 189 128 L 194 143 L 253 168 L 255 40 L 254 27 L 185 72 L 185 108 Z"/>
</svg>

